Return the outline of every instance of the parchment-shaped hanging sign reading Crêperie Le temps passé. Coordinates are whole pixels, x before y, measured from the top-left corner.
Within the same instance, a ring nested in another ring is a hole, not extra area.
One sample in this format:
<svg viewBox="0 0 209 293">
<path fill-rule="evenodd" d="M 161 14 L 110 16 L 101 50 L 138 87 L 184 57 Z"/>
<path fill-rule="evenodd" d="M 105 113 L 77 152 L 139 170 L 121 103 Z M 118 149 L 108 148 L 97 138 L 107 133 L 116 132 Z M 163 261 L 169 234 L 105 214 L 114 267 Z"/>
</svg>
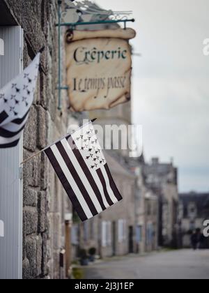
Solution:
<svg viewBox="0 0 209 293">
<path fill-rule="evenodd" d="M 130 100 L 133 29 L 67 34 L 67 85 L 75 112 L 111 109 Z"/>
</svg>

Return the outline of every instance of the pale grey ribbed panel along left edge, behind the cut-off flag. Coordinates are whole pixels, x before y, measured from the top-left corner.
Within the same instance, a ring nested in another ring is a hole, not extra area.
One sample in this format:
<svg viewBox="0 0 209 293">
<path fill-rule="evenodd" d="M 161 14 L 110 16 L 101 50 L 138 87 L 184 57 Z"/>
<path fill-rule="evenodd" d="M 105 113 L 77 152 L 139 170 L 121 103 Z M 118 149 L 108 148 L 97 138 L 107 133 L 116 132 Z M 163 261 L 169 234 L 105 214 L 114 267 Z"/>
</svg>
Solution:
<svg viewBox="0 0 209 293">
<path fill-rule="evenodd" d="M 23 31 L 0 27 L 4 50 L 0 55 L 0 88 L 22 71 Z M 1 42 L 2 44 L 2 42 Z M 0 149 L 0 278 L 22 278 L 22 141 L 13 149 Z"/>
</svg>

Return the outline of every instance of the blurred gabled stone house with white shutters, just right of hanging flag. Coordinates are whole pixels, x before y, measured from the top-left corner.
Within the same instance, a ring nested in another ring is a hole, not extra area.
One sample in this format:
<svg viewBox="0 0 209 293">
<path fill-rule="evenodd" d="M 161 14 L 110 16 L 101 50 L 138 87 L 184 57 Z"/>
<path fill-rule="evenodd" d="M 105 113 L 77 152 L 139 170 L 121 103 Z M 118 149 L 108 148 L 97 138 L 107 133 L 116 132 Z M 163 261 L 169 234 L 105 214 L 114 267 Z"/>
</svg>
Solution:
<svg viewBox="0 0 209 293">
<path fill-rule="evenodd" d="M 135 200 L 137 177 L 113 156 L 107 156 L 111 173 L 123 201 L 104 211 L 100 218 L 101 255 L 127 255 L 136 253 Z"/>
</svg>

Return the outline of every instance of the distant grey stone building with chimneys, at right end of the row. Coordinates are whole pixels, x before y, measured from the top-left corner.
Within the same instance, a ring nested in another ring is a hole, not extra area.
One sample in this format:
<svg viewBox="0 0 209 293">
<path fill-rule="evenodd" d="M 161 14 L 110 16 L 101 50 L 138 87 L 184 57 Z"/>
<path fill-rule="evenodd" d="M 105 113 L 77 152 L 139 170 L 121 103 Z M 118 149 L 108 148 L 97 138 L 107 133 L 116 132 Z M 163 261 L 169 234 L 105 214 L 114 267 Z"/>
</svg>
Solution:
<svg viewBox="0 0 209 293">
<path fill-rule="evenodd" d="M 158 197 L 158 243 L 159 246 L 177 245 L 178 216 L 178 170 L 173 163 L 160 163 L 153 158 L 152 163 L 143 167 L 144 181 Z"/>
</svg>

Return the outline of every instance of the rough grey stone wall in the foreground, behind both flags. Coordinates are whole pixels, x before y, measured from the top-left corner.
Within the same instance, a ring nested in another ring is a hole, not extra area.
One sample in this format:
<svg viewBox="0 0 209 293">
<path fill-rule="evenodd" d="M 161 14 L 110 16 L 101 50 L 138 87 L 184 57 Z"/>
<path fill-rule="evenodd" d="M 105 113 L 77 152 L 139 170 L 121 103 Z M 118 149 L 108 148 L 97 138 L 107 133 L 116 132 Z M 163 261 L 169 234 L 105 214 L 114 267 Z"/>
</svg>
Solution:
<svg viewBox="0 0 209 293">
<path fill-rule="evenodd" d="M 67 111 L 57 110 L 57 1 L 3 0 L 24 29 L 24 67 L 45 45 L 29 121 L 24 130 L 24 159 L 62 137 Z M 67 109 L 66 99 L 63 109 Z M 44 154 L 24 165 L 23 278 L 59 278 L 67 196 Z M 70 206 L 69 206 L 70 208 Z"/>
</svg>

